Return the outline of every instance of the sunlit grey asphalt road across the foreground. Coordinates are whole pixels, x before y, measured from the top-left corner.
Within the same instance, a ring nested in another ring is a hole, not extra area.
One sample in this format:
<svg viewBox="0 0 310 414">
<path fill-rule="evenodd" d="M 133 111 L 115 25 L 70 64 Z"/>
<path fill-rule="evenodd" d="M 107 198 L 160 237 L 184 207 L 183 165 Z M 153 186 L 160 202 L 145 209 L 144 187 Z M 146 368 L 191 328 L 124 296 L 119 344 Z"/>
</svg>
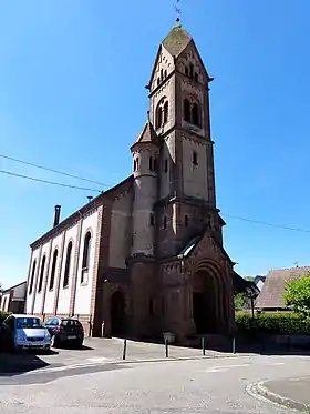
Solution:
<svg viewBox="0 0 310 414">
<path fill-rule="evenodd" d="M 189 361 L 101 363 L 2 377 L 6 414 L 288 414 L 249 394 L 250 384 L 302 376 L 310 359 L 237 356 Z M 19 386 L 17 386 L 19 385 Z"/>
</svg>

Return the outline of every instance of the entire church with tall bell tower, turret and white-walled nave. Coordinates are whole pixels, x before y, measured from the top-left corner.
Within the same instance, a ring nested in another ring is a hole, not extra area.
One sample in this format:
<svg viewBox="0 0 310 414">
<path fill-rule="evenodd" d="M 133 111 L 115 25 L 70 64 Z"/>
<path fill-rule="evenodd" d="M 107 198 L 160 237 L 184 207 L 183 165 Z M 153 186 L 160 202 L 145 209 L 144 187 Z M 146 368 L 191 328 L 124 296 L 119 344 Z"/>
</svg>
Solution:
<svg viewBox="0 0 310 414">
<path fill-rule="evenodd" d="M 179 343 L 235 329 L 234 262 L 216 205 L 209 77 L 179 21 L 151 74 L 131 175 L 31 244 L 25 312 L 74 315 L 91 336 Z"/>
</svg>

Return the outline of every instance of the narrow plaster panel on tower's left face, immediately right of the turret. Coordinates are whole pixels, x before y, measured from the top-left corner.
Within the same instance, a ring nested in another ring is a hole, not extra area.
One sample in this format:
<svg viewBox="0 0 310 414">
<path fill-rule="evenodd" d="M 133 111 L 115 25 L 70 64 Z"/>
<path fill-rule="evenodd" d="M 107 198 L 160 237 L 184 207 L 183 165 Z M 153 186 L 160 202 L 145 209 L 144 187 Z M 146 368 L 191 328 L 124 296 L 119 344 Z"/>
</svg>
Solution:
<svg viewBox="0 0 310 414">
<path fill-rule="evenodd" d="M 165 172 L 165 160 L 168 160 L 168 171 Z M 175 162 L 175 138 L 174 134 L 165 138 L 161 150 L 161 169 L 159 169 L 159 199 L 169 194 L 170 182 L 173 180 L 173 164 Z"/>
</svg>

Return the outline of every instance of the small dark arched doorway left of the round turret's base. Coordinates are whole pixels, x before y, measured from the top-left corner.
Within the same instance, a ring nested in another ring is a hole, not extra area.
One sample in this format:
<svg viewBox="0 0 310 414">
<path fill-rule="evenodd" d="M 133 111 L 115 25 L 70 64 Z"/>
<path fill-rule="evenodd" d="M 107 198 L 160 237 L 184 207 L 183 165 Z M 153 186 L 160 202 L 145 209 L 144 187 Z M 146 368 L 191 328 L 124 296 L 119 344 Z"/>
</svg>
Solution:
<svg viewBox="0 0 310 414">
<path fill-rule="evenodd" d="M 110 300 L 111 333 L 114 336 L 122 336 L 126 331 L 125 294 L 116 291 Z"/>
</svg>

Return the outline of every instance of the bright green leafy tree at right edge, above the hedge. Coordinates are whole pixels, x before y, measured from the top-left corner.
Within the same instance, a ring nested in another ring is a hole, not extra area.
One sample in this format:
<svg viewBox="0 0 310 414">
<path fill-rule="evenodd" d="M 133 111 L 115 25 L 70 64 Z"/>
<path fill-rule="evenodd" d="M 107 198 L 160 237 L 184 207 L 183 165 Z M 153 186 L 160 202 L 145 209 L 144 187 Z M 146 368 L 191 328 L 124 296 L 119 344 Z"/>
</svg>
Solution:
<svg viewBox="0 0 310 414">
<path fill-rule="evenodd" d="M 283 300 L 296 313 L 310 317 L 310 274 L 287 282 Z"/>
</svg>

